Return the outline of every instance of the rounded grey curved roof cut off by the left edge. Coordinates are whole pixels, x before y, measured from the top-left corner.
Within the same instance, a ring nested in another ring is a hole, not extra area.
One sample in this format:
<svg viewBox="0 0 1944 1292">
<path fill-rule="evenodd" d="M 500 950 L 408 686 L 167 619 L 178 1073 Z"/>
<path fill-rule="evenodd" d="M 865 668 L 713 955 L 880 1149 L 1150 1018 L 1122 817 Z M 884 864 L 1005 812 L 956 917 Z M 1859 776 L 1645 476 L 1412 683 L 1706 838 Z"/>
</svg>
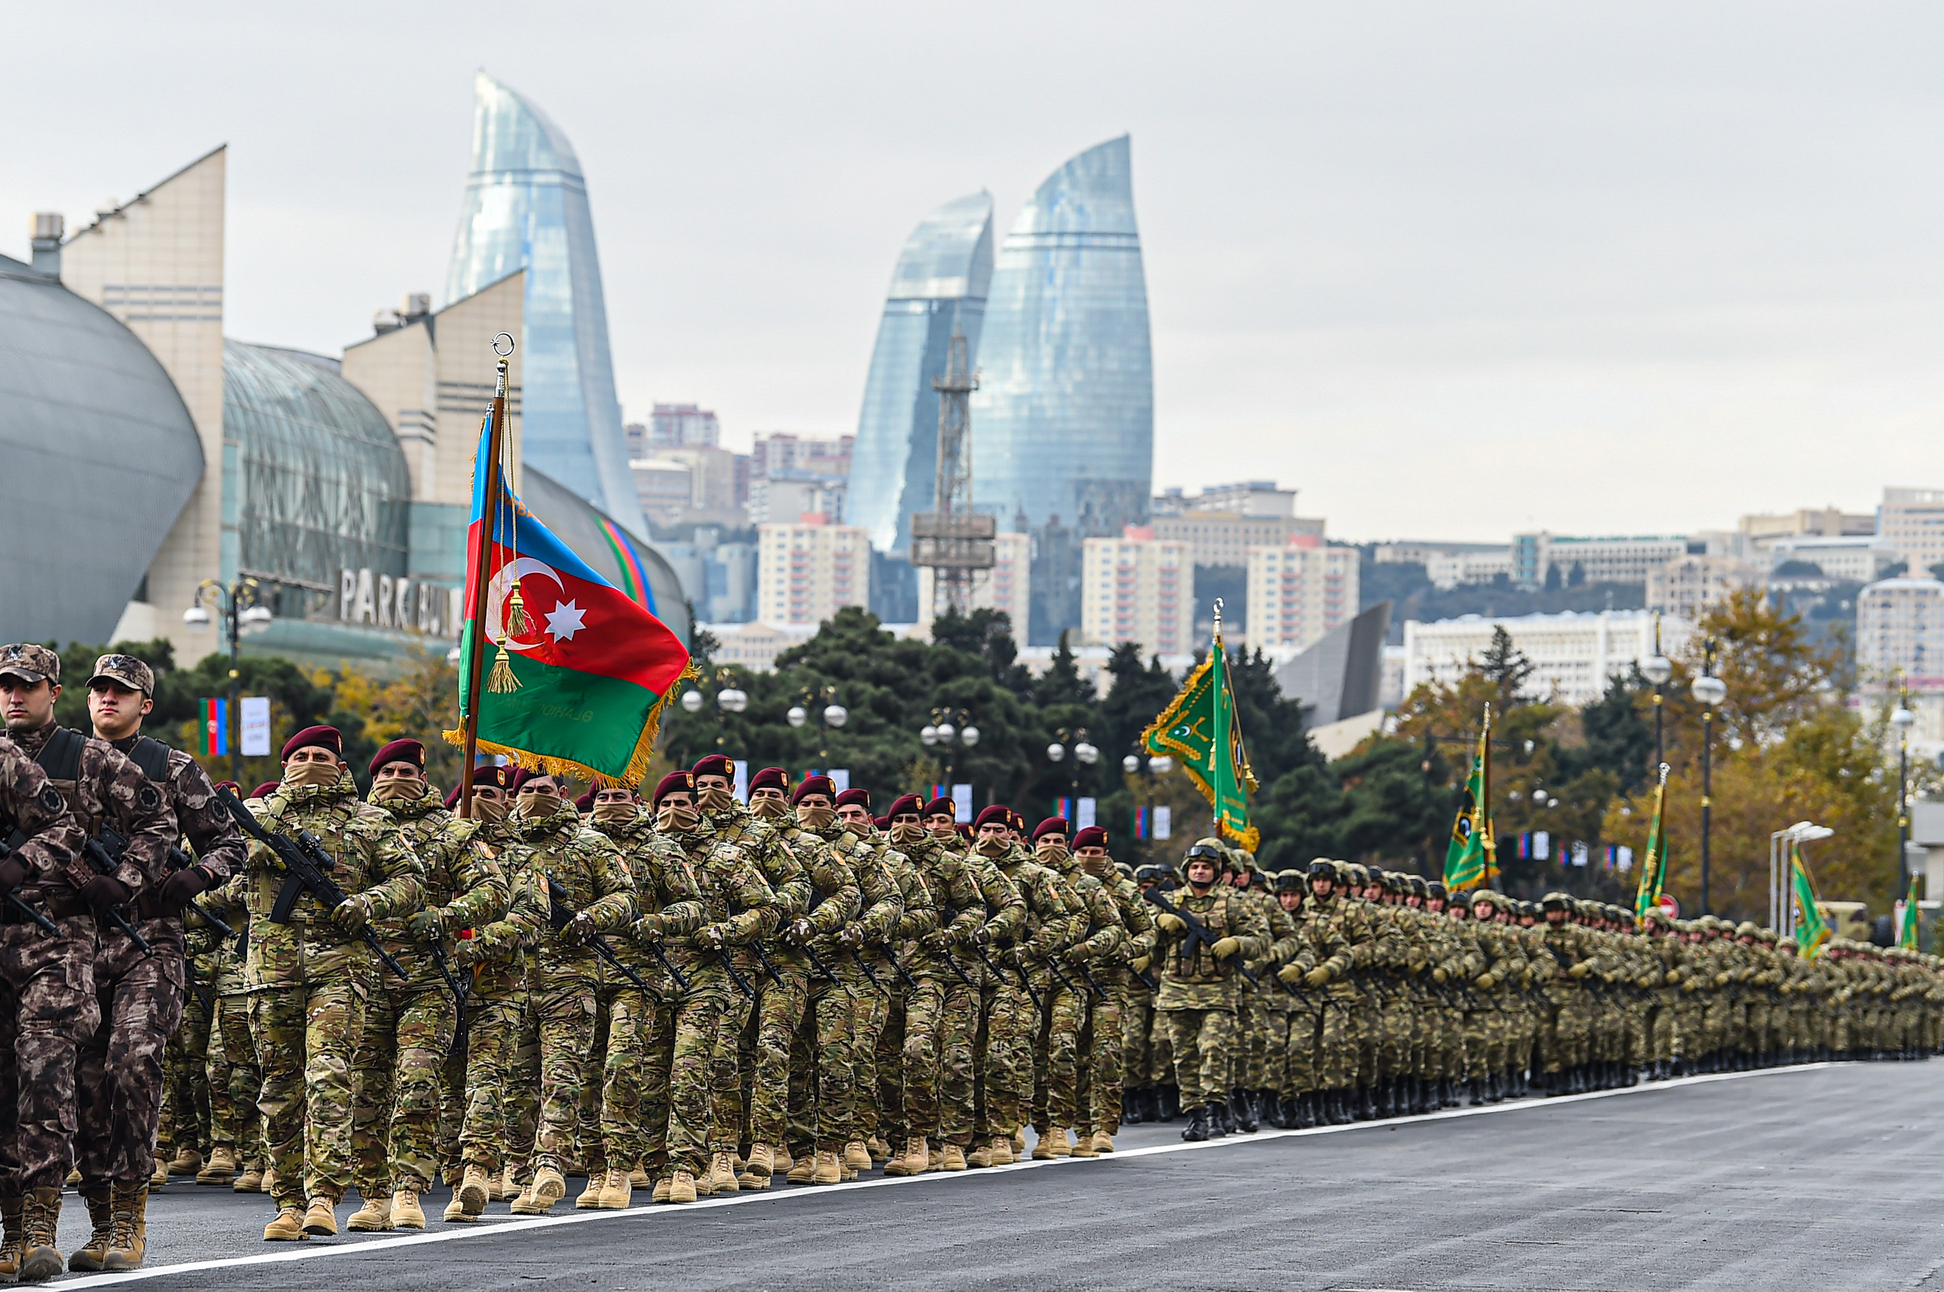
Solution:
<svg viewBox="0 0 1944 1292">
<path fill-rule="evenodd" d="M 0 637 L 107 641 L 202 478 L 189 408 L 122 323 L 6 256 L 0 408 Z"/>
</svg>

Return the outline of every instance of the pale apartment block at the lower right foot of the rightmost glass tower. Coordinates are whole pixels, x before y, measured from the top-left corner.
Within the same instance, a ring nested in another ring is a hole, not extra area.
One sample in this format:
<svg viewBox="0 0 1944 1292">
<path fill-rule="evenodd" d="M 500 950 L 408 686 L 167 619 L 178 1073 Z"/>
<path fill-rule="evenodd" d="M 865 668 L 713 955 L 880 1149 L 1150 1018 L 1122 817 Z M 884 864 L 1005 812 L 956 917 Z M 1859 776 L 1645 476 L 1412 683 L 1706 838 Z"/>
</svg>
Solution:
<svg viewBox="0 0 1944 1292">
<path fill-rule="evenodd" d="M 1143 655 L 1194 649 L 1196 563 L 1186 542 L 1129 525 L 1120 538 L 1081 542 L 1081 639 L 1133 641 Z"/>
</svg>

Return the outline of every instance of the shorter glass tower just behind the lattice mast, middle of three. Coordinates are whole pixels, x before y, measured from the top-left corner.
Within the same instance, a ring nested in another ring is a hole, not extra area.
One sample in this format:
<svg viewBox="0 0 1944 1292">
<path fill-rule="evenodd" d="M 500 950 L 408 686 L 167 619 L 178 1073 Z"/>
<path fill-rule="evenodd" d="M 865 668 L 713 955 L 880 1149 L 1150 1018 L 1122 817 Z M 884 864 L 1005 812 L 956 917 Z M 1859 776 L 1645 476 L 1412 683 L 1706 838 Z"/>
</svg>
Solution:
<svg viewBox="0 0 1944 1292">
<path fill-rule="evenodd" d="M 989 284 L 991 194 L 947 202 L 904 239 L 877 324 L 844 493 L 846 525 L 871 530 L 879 552 L 910 552 L 912 513 L 933 505 L 939 392 L 931 379 L 945 371 L 955 326 L 976 361 Z"/>
</svg>

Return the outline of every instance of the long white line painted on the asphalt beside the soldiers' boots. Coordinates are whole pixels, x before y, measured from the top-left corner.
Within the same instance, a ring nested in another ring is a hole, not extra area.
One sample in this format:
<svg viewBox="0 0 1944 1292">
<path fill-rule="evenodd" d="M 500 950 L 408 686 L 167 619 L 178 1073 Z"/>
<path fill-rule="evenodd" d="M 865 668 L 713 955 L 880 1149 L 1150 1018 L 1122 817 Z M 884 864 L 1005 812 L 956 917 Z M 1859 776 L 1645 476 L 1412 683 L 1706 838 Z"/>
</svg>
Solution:
<svg viewBox="0 0 1944 1292">
<path fill-rule="evenodd" d="M 1582 1104 L 1586 1100 L 1614 1100 L 1631 1094 L 1652 1094 L 1658 1090 L 1682 1090 L 1685 1086 L 1709 1086 L 1724 1080 L 1744 1080 L 1750 1076 L 1775 1076 L 1779 1072 L 1816 1072 L 1820 1069 L 1833 1067 L 1829 1063 L 1800 1063 L 1794 1067 L 1779 1069 L 1753 1069 L 1748 1072 L 1707 1072 L 1703 1076 L 1678 1076 L 1664 1082 L 1643 1082 L 1639 1086 L 1619 1086 L 1615 1090 L 1590 1090 L 1586 1094 L 1561 1094 L 1551 1098 L 1526 1098 L 1512 1100 L 1507 1104 L 1479 1104 L 1474 1107 L 1450 1107 L 1437 1113 L 1425 1113 L 1421 1117 L 1386 1117 L 1378 1121 L 1351 1121 L 1341 1127 L 1310 1127 L 1308 1131 L 1258 1131 L 1254 1135 L 1231 1135 L 1225 1139 L 1203 1140 L 1199 1144 L 1149 1144 L 1145 1148 L 1122 1148 L 1110 1154 L 1100 1154 L 1098 1158 L 1054 1158 L 1050 1162 L 1034 1162 L 1032 1158 L 1024 1162 L 1015 1162 L 1011 1166 L 988 1166 L 974 1168 L 968 1172 L 925 1172 L 923 1175 L 881 1175 L 877 1179 L 853 1179 L 846 1185 L 811 1185 L 811 1187 L 789 1187 L 783 1191 L 764 1189 L 760 1193 L 737 1193 L 735 1197 L 723 1199 L 698 1199 L 680 1207 L 669 1205 L 647 1205 L 630 1207 L 626 1210 L 573 1210 L 564 1216 L 496 1216 L 486 1224 L 455 1224 L 439 1230 L 428 1230 L 424 1234 L 400 1234 L 385 1240 L 364 1240 L 356 1243 L 334 1245 L 329 1241 L 309 1240 L 290 1245 L 280 1245 L 274 1251 L 264 1251 L 251 1257 L 220 1257 L 212 1261 L 181 1261 L 177 1265 L 152 1265 L 138 1271 L 128 1271 L 124 1275 L 89 1275 L 86 1278 L 62 1278 L 62 1288 L 107 1288 L 121 1282 L 138 1282 L 142 1278 L 161 1278 L 167 1275 L 198 1275 L 214 1269 L 245 1269 L 251 1265 L 280 1265 L 284 1261 L 319 1261 L 329 1257 L 362 1257 L 362 1255 L 391 1255 L 404 1247 L 422 1247 L 428 1243 L 451 1243 L 465 1241 L 469 1238 L 488 1238 L 505 1236 L 511 1232 L 531 1232 L 531 1230 L 552 1230 L 566 1224 L 599 1224 L 603 1220 L 678 1220 L 680 1216 L 690 1216 L 698 1210 L 717 1208 L 717 1207 L 743 1207 L 746 1203 L 780 1203 L 789 1199 L 822 1199 L 834 1193 L 851 1193 L 857 1189 L 892 1189 L 900 1185 L 929 1185 L 964 1179 L 989 1179 L 993 1175 L 1003 1175 L 1007 1172 L 1030 1172 L 1050 1166 L 1087 1166 L 1093 1162 L 1114 1162 L 1116 1158 L 1151 1158 L 1166 1152 L 1201 1152 L 1219 1148 L 1236 1148 L 1242 1144 L 1264 1144 L 1267 1140 L 1279 1139 L 1306 1139 L 1312 1135 L 1343 1135 L 1347 1131 L 1374 1131 L 1378 1127 L 1413 1127 L 1431 1121 L 1454 1121 L 1460 1117 L 1489 1117 L 1493 1113 L 1516 1113 L 1538 1107 L 1561 1107 L 1565 1104 Z"/>
</svg>

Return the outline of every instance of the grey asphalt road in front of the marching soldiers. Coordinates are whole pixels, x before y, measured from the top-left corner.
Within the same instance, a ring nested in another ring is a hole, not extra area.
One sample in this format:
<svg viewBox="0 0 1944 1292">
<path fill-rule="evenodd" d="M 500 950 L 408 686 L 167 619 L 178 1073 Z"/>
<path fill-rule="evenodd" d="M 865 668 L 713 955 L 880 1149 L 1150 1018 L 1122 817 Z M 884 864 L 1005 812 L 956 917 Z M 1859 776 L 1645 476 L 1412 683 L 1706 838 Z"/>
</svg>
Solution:
<svg viewBox="0 0 1944 1292">
<path fill-rule="evenodd" d="M 1701 1076 L 1094 1162 L 780 1187 L 692 1207 L 437 1220 L 266 1245 L 268 1199 L 171 1183 L 146 1288 L 1928 1288 L 1944 1061 Z M 638 1195 L 640 1197 L 640 1195 Z M 340 1220 L 350 1205 L 340 1210 Z M 86 1238 L 68 1201 L 62 1249 Z"/>
</svg>

